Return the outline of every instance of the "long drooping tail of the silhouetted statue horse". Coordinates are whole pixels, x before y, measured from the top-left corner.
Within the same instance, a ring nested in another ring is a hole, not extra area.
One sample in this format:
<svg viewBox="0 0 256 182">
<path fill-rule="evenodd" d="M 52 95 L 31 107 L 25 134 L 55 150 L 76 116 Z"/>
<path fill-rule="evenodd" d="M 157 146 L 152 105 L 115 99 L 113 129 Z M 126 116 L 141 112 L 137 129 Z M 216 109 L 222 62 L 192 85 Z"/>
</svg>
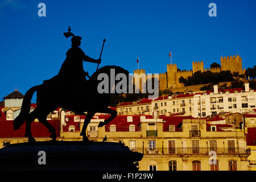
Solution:
<svg viewBox="0 0 256 182">
<path fill-rule="evenodd" d="M 20 113 L 18 117 L 16 117 L 13 121 L 14 130 L 18 130 L 20 126 L 22 126 L 23 123 L 25 122 L 26 118 L 28 117 L 28 114 L 30 114 L 31 99 L 33 94 L 38 89 L 38 86 L 40 85 L 33 86 L 32 88 L 27 90 L 22 101 L 22 107 L 20 109 Z"/>
</svg>

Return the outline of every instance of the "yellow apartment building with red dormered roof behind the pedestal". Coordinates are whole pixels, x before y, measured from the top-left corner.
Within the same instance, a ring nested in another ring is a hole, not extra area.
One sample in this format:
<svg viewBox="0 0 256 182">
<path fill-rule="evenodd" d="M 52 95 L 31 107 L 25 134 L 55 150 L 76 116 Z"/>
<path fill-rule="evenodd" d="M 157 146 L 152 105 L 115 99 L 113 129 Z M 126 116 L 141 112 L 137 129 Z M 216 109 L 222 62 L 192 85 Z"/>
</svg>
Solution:
<svg viewBox="0 0 256 182">
<path fill-rule="evenodd" d="M 63 118 L 61 123 L 65 126 L 61 139 L 81 140 L 79 132 L 84 118 L 79 117 L 67 115 Z M 102 141 L 106 135 L 108 142 L 120 142 L 132 151 L 141 152 L 144 156 L 139 162 L 139 170 L 248 170 L 250 149 L 246 147 L 245 133 L 231 124 L 211 124 L 212 121 L 206 118 L 189 116 L 118 115 L 105 127 L 97 128 L 98 123 L 108 117 L 94 116 L 88 125 L 89 139 Z"/>
</svg>

